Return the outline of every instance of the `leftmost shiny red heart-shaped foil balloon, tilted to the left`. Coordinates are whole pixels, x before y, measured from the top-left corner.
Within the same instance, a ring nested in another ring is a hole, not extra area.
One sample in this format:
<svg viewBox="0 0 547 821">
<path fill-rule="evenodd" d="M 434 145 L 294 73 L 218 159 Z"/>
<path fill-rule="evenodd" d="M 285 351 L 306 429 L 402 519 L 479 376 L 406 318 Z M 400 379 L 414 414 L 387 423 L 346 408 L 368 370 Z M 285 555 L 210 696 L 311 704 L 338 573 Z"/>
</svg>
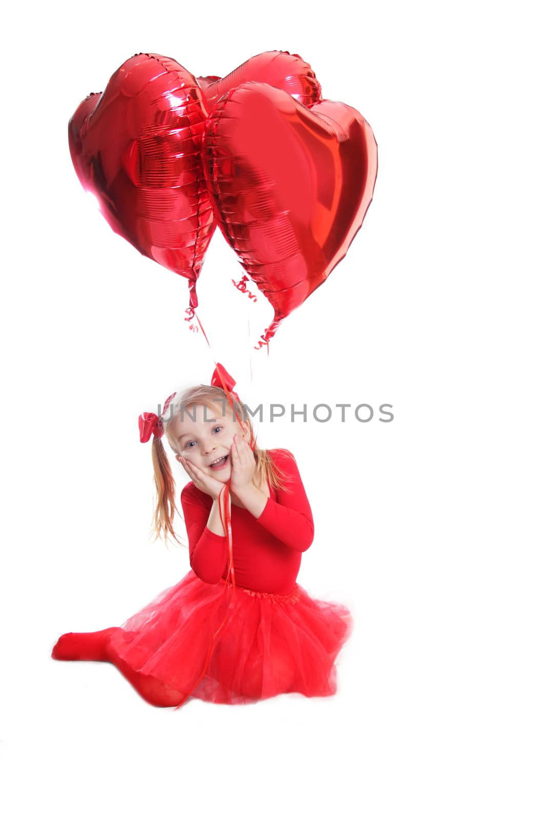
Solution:
<svg viewBox="0 0 547 821">
<path fill-rule="evenodd" d="M 136 54 L 102 94 L 80 103 L 68 128 L 82 186 L 117 234 L 188 278 L 190 316 L 215 229 L 199 154 L 206 117 L 189 71 L 161 54 Z"/>
</svg>

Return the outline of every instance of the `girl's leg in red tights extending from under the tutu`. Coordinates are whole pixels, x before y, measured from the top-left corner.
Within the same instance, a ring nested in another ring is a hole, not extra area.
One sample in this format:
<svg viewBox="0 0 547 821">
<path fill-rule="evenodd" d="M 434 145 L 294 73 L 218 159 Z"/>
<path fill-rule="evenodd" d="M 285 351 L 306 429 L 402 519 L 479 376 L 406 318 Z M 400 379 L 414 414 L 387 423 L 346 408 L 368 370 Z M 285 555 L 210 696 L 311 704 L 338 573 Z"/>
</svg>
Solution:
<svg viewBox="0 0 547 821">
<path fill-rule="evenodd" d="M 107 627 L 94 633 L 63 633 L 52 649 L 52 658 L 62 661 L 110 662 L 148 704 L 154 707 L 175 707 L 184 695 L 162 684 L 153 676 L 135 672 L 123 659 L 112 651 L 110 636 L 120 627 Z"/>
</svg>

